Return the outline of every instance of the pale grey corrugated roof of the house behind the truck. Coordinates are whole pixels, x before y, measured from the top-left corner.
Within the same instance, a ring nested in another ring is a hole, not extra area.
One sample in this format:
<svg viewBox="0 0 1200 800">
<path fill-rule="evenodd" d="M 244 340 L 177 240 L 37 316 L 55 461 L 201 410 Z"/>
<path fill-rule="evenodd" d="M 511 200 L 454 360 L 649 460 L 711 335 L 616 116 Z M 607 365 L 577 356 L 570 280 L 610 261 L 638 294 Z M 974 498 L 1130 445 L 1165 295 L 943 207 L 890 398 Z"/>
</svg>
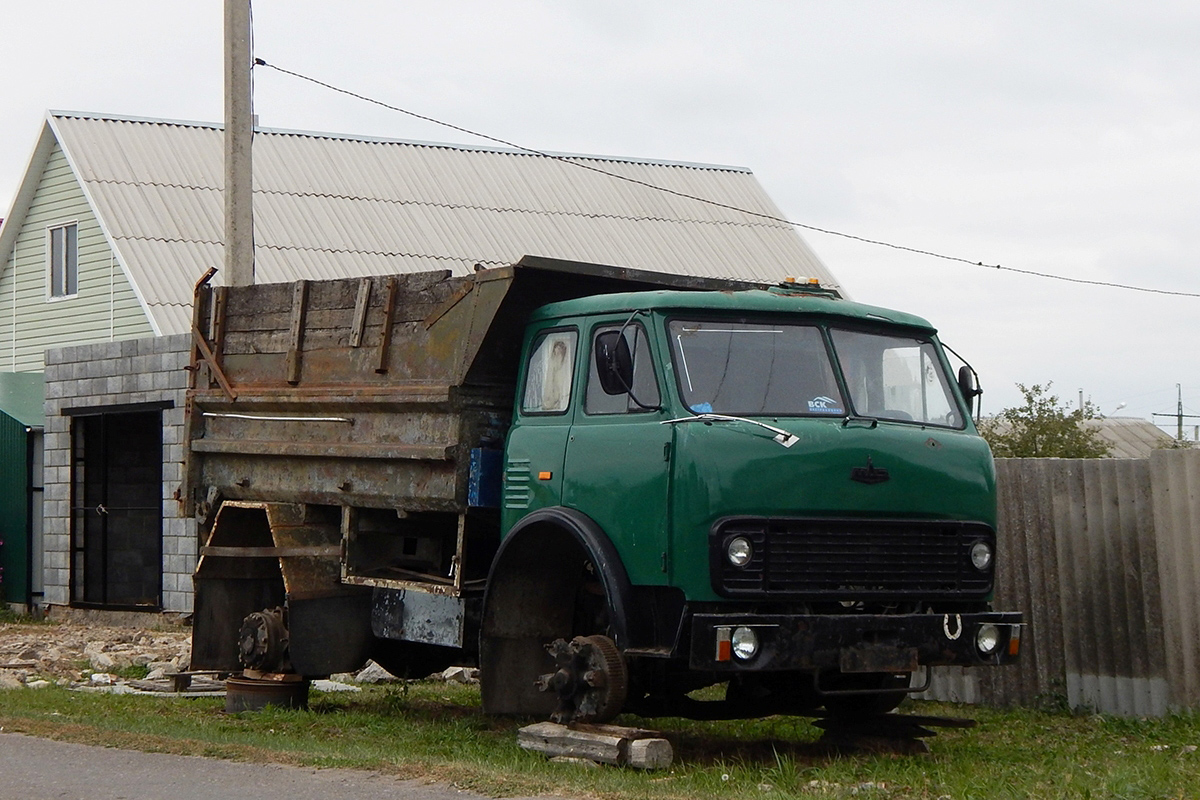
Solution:
<svg viewBox="0 0 1200 800">
<path fill-rule="evenodd" d="M 223 264 L 221 126 L 74 113 L 49 125 L 158 330 L 186 331 L 192 285 Z M 781 216 L 740 168 L 270 130 L 253 146 L 260 283 L 464 275 L 528 254 L 838 285 L 791 225 L 612 176 Z"/>
</svg>

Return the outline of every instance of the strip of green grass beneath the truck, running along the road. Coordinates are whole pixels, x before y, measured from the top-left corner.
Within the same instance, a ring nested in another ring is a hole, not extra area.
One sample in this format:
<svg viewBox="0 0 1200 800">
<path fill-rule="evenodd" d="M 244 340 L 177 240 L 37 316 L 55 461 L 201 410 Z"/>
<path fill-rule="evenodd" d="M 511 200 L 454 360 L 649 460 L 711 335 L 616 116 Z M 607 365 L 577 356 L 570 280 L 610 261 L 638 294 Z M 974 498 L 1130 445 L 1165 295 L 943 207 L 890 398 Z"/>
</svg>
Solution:
<svg viewBox="0 0 1200 800">
<path fill-rule="evenodd" d="M 485 717 L 478 688 L 418 682 L 312 694 L 308 711 L 227 715 L 221 699 L 0 692 L 0 728 L 137 750 L 306 766 L 379 770 L 492 796 L 740 800 L 757 798 L 1196 798 L 1200 716 L 1157 720 L 996 711 L 911 703 L 912 714 L 966 716 L 925 757 L 838 756 L 796 717 L 620 722 L 665 732 L 668 771 L 551 764 L 516 746 L 514 720 Z"/>
</svg>

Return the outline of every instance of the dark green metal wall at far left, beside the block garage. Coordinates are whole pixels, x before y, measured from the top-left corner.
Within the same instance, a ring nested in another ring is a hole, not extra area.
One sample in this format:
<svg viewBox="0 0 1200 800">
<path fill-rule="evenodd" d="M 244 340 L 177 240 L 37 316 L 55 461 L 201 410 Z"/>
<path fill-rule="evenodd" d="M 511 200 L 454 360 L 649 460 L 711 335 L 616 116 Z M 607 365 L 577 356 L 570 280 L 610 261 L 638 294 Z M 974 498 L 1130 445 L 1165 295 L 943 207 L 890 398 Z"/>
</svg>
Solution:
<svg viewBox="0 0 1200 800">
<path fill-rule="evenodd" d="M 0 599 L 24 603 L 29 595 L 29 434 L 0 411 Z"/>
</svg>

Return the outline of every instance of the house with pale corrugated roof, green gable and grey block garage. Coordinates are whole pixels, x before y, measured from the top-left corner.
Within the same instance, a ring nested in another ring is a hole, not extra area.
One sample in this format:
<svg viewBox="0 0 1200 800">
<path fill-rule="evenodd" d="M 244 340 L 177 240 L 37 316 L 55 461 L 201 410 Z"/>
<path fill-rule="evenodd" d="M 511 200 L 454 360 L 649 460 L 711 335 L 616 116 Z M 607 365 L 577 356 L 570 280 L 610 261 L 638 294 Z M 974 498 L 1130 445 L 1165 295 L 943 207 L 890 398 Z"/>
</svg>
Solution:
<svg viewBox="0 0 1200 800">
<path fill-rule="evenodd" d="M 541 255 L 836 287 L 743 168 L 265 128 L 253 158 L 259 283 Z M 46 373 L 49 606 L 191 609 L 174 497 L 222 160 L 220 125 L 52 112 L 0 227 L 0 372 Z"/>
</svg>

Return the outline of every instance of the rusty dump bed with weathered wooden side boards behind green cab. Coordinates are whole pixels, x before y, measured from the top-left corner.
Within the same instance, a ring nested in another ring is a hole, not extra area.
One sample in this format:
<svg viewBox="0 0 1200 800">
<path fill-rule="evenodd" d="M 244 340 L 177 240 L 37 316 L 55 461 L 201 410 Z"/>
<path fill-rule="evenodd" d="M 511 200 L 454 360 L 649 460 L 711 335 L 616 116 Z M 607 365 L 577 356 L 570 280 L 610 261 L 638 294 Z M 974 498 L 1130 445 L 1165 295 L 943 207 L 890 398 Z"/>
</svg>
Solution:
<svg viewBox="0 0 1200 800">
<path fill-rule="evenodd" d="M 202 519 L 222 499 L 462 513 L 472 451 L 503 447 L 529 312 L 732 287 L 532 257 L 468 277 L 202 281 L 184 503 Z"/>
</svg>

